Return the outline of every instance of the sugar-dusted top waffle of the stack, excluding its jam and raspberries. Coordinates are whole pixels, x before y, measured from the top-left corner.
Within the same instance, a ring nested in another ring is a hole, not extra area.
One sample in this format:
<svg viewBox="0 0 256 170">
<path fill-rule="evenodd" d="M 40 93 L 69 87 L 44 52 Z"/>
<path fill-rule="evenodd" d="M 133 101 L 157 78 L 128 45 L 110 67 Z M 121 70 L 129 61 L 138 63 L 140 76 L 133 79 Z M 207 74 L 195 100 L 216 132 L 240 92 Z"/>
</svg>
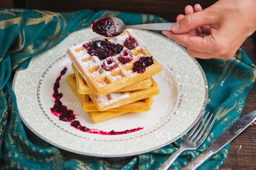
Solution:
<svg viewBox="0 0 256 170">
<path fill-rule="evenodd" d="M 133 54 L 132 61 L 122 64 L 118 60 L 119 54 L 112 56 L 117 62 L 117 66 L 110 71 L 106 71 L 102 67 L 103 61 L 106 59 L 100 60 L 97 56 L 89 55 L 88 51 L 83 47 L 83 44 L 94 40 L 105 40 L 106 38 L 103 36 L 74 45 L 67 50 L 68 57 L 95 94 L 99 96 L 106 95 L 162 71 L 162 67 L 154 57 L 154 64 L 148 66 L 144 73 L 132 71 L 133 63 L 138 61 L 141 56 L 152 56 L 142 41 L 130 30 L 124 31 L 124 33 L 117 37 L 108 38 L 108 40 L 109 42 L 123 45 L 129 35 L 137 40 L 136 48 L 131 50 Z M 127 48 L 124 47 L 124 49 Z"/>
</svg>

